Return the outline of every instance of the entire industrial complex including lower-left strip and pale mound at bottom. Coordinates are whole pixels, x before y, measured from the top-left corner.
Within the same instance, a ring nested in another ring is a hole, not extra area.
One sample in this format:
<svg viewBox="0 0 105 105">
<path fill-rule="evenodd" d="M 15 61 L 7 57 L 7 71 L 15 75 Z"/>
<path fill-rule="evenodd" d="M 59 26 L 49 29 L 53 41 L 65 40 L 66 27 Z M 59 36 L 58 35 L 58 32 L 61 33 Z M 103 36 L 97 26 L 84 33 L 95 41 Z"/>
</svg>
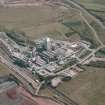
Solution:
<svg viewBox="0 0 105 105">
<path fill-rule="evenodd" d="M 17 71 L 36 88 L 38 94 L 44 84 L 57 87 L 62 81 L 76 76 L 82 69 L 75 65 L 82 62 L 82 52 L 89 51 L 90 43 L 84 40 L 76 42 L 54 40 L 44 37 L 32 41 L 32 45 L 17 44 L 6 33 L 0 33 L 0 50 L 2 61 Z M 28 78 L 29 77 L 29 78 Z M 32 81 L 32 83 L 30 81 Z"/>
</svg>

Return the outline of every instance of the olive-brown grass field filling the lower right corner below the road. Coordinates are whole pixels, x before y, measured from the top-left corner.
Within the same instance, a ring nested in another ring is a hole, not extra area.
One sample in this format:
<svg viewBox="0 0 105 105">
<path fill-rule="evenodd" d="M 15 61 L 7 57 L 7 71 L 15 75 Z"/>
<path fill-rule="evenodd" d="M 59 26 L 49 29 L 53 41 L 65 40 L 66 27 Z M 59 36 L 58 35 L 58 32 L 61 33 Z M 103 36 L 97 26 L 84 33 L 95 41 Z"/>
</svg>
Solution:
<svg viewBox="0 0 105 105">
<path fill-rule="evenodd" d="M 105 69 L 86 67 L 71 81 L 62 83 L 57 89 L 79 105 L 105 105 Z M 45 89 L 41 95 L 54 96 Z"/>
</svg>

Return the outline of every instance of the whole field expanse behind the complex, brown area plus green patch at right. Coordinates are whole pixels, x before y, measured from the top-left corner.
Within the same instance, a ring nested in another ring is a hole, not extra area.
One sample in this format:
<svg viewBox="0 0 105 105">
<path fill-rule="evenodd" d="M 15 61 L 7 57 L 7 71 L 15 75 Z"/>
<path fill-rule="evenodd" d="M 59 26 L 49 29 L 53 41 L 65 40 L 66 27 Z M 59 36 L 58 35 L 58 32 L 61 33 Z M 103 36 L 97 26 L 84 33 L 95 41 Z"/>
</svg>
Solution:
<svg viewBox="0 0 105 105">
<path fill-rule="evenodd" d="M 89 19 L 91 22 L 91 19 Z M 69 26 L 68 26 L 69 25 Z M 0 8 L 0 26 L 20 29 L 29 37 L 50 36 L 65 39 L 65 34 L 78 34 L 82 39 L 91 41 L 93 48 L 98 46 L 94 33 L 83 22 L 74 9 L 51 7 L 48 5 L 21 8 Z"/>
</svg>

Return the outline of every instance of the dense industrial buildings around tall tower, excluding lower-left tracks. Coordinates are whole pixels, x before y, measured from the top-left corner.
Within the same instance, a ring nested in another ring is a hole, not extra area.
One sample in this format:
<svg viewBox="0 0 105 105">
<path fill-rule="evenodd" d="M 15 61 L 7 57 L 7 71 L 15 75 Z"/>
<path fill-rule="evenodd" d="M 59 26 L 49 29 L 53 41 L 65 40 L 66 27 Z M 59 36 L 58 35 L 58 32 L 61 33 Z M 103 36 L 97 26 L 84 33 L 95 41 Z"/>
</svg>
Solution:
<svg viewBox="0 0 105 105">
<path fill-rule="evenodd" d="M 65 77 L 75 76 L 77 72 L 70 67 L 79 62 L 78 54 L 90 47 L 90 43 L 83 40 L 69 42 L 45 37 L 34 40 L 33 47 L 30 48 L 18 45 L 5 33 L 0 34 L 0 43 L 2 43 L 0 48 L 5 47 L 5 50 L 10 52 L 9 55 L 14 64 L 22 65 L 32 72 L 32 75 L 41 77 L 41 81 L 49 77 L 52 80 L 55 77 L 62 80 Z M 52 80 L 49 79 L 49 81 Z M 59 81 L 59 79 L 55 80 Z"/>
</svg>

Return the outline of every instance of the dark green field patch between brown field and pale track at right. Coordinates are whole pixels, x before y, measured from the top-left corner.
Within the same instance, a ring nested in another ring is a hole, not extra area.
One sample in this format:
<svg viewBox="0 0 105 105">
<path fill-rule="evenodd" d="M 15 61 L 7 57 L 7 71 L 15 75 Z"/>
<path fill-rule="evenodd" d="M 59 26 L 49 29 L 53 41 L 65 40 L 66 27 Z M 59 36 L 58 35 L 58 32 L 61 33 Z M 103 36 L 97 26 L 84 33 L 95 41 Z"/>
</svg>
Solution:
<svg viewBox="0 0 105 105">
<path fill-rule="evenodd" d="M 82 40 L 86 40 L 91 43 L 91 48 L 97 48 L 100 45 L 94 36 L 93 31 L 85 22 L 83 22 L 82 18 L 79 20 L 71 19 L 70 21 L 63 22 L 63 24 L 72 30 L 72 32 L 68 34 L 69 36 L 73 36 L 74 33 L 78 34 Z"/>
</svg>

